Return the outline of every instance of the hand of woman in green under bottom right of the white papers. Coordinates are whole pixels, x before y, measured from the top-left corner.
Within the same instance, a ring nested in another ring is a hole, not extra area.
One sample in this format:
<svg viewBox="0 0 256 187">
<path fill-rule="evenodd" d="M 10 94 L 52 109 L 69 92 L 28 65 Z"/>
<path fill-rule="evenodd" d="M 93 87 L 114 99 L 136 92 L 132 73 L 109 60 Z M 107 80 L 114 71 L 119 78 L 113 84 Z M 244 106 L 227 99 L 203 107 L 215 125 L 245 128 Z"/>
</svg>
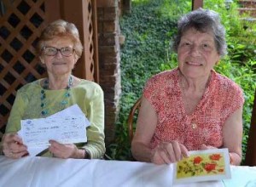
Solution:
<svg viewBox="0 0 256 187">
<path fill-rule="evenodd" d="M 49 151 L 58 158 L 84 158 L 84 150 L 79 150 L 75 144 L 60 144 L 49 140 Z"/>
</svg>

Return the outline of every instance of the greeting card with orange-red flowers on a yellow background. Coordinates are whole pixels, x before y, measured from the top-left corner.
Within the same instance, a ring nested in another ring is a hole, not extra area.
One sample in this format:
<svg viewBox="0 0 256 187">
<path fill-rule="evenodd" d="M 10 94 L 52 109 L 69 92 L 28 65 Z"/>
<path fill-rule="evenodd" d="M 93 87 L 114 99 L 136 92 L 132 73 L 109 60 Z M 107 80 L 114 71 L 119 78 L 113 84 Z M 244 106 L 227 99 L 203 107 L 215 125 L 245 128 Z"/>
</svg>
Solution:
<svg viewBox="0 0 256 187">
<path fill-rule="evenodd" d="M 189 151 L 174 164 L 174 184 L 231 178 L 228 149 Z"/>
</svg>

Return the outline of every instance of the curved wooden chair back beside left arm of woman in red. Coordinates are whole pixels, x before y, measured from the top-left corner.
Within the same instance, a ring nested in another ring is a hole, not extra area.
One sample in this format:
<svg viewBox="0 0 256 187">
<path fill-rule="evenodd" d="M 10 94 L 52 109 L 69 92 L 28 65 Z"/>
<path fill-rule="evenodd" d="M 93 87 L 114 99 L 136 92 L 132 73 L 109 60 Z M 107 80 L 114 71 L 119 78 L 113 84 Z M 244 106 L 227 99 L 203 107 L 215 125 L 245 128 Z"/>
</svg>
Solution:
<svg viewBox="0 0 256 187">
<path fill-rule="evenodd" d="M 128 116 L 128 132 L 129 132 L 129 138 L 130 142 L 133 138 L 133 118 L 135 114 L 138 114 L 139 108 L 142 103 L 142 97 L 137 99 L 136 103 L 131 107 L 131 111 Z"/>
</svg>

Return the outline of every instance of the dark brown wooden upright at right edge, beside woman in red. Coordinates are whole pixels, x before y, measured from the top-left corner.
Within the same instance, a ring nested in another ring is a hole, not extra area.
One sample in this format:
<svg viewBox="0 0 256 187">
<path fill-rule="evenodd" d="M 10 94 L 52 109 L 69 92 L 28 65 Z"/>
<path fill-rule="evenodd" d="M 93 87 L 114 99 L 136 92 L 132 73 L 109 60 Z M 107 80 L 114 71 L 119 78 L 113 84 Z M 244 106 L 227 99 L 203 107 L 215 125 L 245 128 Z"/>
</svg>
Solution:
<svg viewBox="0 0 256 187">
<path fill-rule="evenodd" d="M 248 134 L 247 153 L 244 161 L 246 166 L 256 166 L 256 90 L 254 94 L 251 127 Z"/>
</svg>

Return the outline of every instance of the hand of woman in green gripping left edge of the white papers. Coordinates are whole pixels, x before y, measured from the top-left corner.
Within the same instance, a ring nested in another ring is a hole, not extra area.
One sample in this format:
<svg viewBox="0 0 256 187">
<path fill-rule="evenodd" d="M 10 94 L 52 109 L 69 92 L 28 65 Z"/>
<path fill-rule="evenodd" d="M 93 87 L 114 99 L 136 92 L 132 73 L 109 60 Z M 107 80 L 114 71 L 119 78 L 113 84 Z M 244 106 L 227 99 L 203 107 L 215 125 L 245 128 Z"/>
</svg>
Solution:
<svg viewBox="0 0 256 187">
<path fill-rule="evenodd" d="M 3 154 L 9 158 L 20 158 L 28 154 L 27 147 L 17 133 L 3 135 Z"/>
</svg>

